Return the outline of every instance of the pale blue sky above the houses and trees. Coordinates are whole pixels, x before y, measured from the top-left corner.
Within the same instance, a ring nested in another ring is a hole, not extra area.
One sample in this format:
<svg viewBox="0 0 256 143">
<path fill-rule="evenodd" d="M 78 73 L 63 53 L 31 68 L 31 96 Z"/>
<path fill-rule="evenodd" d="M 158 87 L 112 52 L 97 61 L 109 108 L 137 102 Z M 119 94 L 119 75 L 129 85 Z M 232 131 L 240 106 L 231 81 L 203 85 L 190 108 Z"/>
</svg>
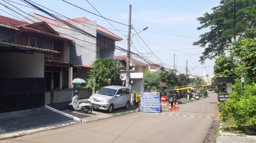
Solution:
<svg viewBox="0 0 256 143">
<path fill-rule="evenodd" d="M 208 75 L 213 74 L 214 60 L 206 60 L 205 64 L 200 64 L 198 60 L 201 53 L 204 51 L 204 48 L 192 46 L 192 44 L 193 42 L 199 40 L 198 38 L 200 34 L 209 31 L 209 29 L 198 31 L 197 27 L 200 27 L 200 23 L 196 20 L 196 18 L 203 16 L 205 12 L 212 12 L 210 9 L 218 6 L 220 1 L 88 1 L 105 18 L 112 19 L 123 24 L 128 24 L 129 5 L 131 5 L 131 24 L 137 32 L 141 31 L 146 26 L 148 27 L 146 31 L 139 33 L 139 36 L 141 36 L 143 41 L 150 48 L 148 49 L 141 38 L 138 37 L 138 34 L 135 34 L 131 39 L 131 51 L 134 53 L 138 53 L 138 51 L 139 53 L 149 53 L 142 54 L 142 56 L 150 59 L 154 63 L 161 63 L 162 61 L 166 65 L 164 67 L 168 66 L 168 68 L 173 68 L 175 54 L 175 66 L 180 73 L 185 73 L 186 60 L 188 60 L 189 74 L 199 76 L 203 75 L 204 67 L 207 68 Z M 20 1 L 15 2 L 23 3 Z M 34 0 L 34 2 L 65 15 L 68 18 L 79 18 L 85 16 L 92 21 L 97 21 L 97 24 L 122 37 L 123 41 L 117 42 L 116 45 L 127 49 L 127 25 L 106 21 L 103 18 L 71 6 L 61 0 Z M 94 8 L 86 0 L 69 2 L 84 8 L 85 10 L 98 14 L 98 12 L 94 10 Z M 6 3 L 3 1 L 1 1 L 1 3 L 6 5 Z M 16 4 L 13 5 L 19 7 L 27 13 L 32 11 L 42 14 L 42 12 L 32 8 Z M 5 7 L 0 6 L 0 9 L 0 15 L 14 18 L 10 15 L 12 13 Z M 10 14 L 7 14 L 4 11 L 9 12 Z M 19 17 L 22 18 L 20 15 Z M 131 32 L 131 35 L 136 33 L 134 30 Z M 153 51 L 158 58 L 156 58 L 154 54 L 150 54 L 150 50 Z M 115 50 L 115 55 L 126 55 L 126 53 Z"/>
</svg>

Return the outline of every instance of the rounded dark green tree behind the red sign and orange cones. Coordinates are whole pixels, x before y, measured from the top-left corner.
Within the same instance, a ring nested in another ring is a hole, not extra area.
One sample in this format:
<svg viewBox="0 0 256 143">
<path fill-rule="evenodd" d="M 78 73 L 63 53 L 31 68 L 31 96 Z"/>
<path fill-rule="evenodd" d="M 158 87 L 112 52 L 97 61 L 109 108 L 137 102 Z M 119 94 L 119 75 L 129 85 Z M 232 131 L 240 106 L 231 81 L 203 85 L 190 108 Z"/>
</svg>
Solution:
<svg viewBox="0 0 256 143">
<path fill-rule="evenodd" d="M 167 83 L 168 89 L 174 89 L 174 85 L 177 84 L 177 76 L 173 70 L 165 70 L 160 72 L 160 81 Z"/>
</svg>

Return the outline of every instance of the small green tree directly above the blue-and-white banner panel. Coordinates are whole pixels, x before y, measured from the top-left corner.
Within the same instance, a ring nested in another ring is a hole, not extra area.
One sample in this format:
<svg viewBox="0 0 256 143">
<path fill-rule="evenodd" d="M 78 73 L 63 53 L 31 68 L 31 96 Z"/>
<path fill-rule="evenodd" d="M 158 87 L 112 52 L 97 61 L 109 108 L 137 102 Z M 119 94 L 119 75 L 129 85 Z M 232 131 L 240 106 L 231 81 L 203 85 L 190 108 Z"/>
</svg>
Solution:
<svg viewBox="0 0 256 143">
<path fill-rule="evenodd" d="M 144 90 L 159 89 L 160 74 L 158 72 L 146 71 L 143 77 Z"/>
</svg>

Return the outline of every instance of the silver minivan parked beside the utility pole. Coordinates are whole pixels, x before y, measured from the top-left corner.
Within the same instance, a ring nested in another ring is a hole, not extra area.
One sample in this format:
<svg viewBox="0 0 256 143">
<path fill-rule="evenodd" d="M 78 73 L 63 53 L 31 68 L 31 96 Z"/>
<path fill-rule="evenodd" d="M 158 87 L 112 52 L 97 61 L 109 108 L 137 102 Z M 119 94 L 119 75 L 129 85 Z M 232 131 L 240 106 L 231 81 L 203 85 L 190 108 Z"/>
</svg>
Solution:
<svg viewBox="0 0 256 143">
<path fill-rule="evenodd" d="M 90 96 L 89 101 L 92 103 L 94 109 L 107 110 L 112 112 L 113 109 L 118 107 L 125 107 L 128 109 L 130 106 L 131 91 L 124 86 L 105 86 L 97 93 Z"/>
</svg>

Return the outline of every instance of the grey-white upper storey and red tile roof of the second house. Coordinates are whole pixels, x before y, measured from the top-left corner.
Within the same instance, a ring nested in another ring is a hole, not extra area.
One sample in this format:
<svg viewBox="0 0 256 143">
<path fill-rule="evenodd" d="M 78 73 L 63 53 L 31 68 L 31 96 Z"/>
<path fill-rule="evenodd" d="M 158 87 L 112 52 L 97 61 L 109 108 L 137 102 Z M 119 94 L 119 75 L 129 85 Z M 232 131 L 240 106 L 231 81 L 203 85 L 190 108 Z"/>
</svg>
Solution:
<svg viewBox="0 0 256 143">
<path fill-rule="evenodd" d="M 98 25 L 96 21 L 90 21 L 85 17 L 60 21 L 30 12 L 24 21 L 44 21 L 61 36 L 72 39 L 69 62 L 81 66 L 91 66 L 97 58 L 114 58 L 115 41 L 122 40 L 121 37 Z"/>
</svg>

